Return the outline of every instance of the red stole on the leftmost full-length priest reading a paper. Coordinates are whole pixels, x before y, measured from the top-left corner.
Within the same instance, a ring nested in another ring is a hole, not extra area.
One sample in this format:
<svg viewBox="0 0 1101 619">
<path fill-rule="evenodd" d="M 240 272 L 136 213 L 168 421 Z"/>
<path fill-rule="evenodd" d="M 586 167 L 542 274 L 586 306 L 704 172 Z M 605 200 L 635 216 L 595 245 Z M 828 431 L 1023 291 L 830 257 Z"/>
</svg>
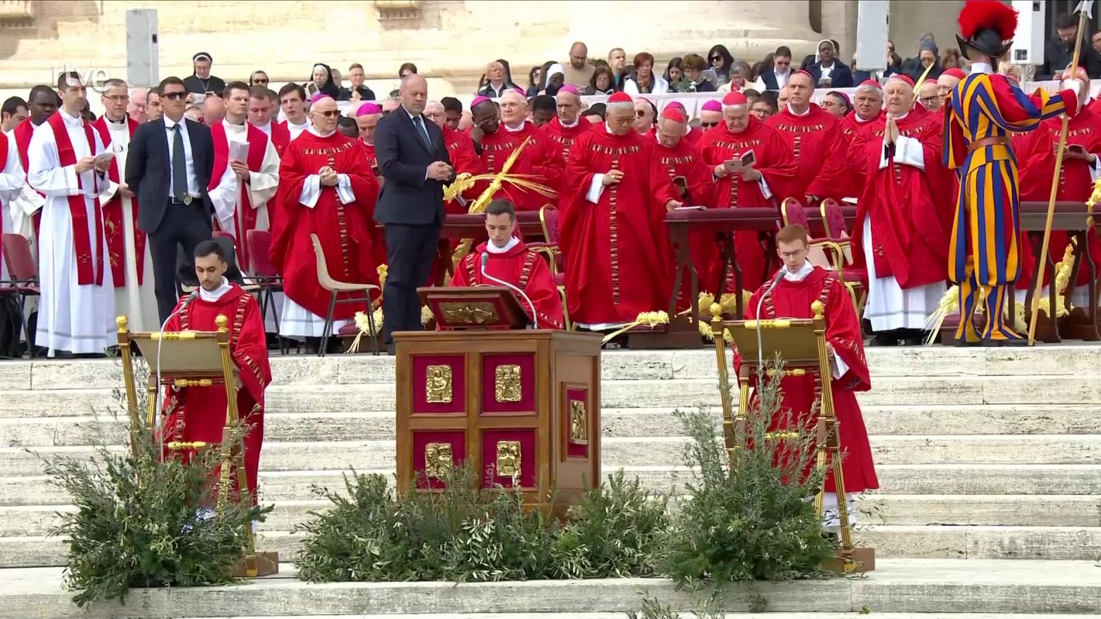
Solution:
<svg viewBox="0 0 1101 619">
<path fill-rule="evenodd" d="M 46 122 L 54 132 L 54 141 L 57 143 L 57 161 L 62 167 L 76 165 L 76 151 L 73 150 L 73 142 L 68 138 L 68 129 L 65 127 L 65 119 L 57 112 L 51 116 Z M 84 134 L 88 140 L 88 152 L 96 155 L 96 138 L 91 132 L 91 124 L 84 121 Z M 92 173 L 95 178 L 95 172 Z M 76 175 L 76 186 L 81 187 L 80 175 Z M 98 187 L 94 186 L 96 193 Z M 91 264 L 91 236 L 88 231 L 88 209 L 85 205 L 85 195 L 79 193 L 75 196 L 66 196 L 69 204 L 69 218 L 73 220 L 73 245 L 76 247 L 76 279 L 80 285 L 103 284 L 103 215 L 99 208 L 99 199 L 92 197 L 91 204 L 95 207 L 96 218 L 96 265 Z"/>
</svg>

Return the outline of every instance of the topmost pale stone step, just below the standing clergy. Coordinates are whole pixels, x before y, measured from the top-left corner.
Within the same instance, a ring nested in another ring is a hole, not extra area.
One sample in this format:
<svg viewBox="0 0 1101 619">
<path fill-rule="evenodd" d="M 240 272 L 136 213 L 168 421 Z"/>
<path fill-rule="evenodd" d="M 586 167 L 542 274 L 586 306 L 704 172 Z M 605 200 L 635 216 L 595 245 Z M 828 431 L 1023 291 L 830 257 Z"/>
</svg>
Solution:
<svg viewBox="0 0 1101 619">
<path fill-rule="evenodd" d="M 1042 346 L 1020 350 L 962 348 L 866 348 L 872 377 L 1036 376 L 1095 373 L 1101 346 Z M 728 358 L 730 352 L 728 350 Z M 274 384 L 363 384 L 394 382 L 394 359 L 367 355 L 271 356 Z M 711 348 L 699 350 L 618 350 L 601 359 L 604 380 L 716 378 Z M 122 384 L 120 359 L 11 360 L 0 363 L 7 389 L 91 389 Z"/>
</svg>

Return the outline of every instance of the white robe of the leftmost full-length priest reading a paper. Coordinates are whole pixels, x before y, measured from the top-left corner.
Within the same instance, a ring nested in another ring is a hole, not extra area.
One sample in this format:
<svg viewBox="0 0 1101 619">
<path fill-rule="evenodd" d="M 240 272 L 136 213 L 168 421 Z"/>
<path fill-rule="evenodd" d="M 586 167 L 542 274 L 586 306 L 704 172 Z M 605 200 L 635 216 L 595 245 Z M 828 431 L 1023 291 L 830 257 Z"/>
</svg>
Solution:
<svg viewBox="0 0 1101 619">
<path fill-rule="evenodd" d="M 57 113 L 62 115 L 65 121 L 76 161 L 103 152 L 98 132 L 91 131 L 96 152 L 89 152 L 84 121 L 64 110 L 57 110 Z M 102 352 L 118 341 L 111 270 L 105 261 L 102 285 L 78 283 L 73 218 L 69 216 L 67 199 L 68 196 L 84 196 L 90 237 L 88 242 L 95 265 L 99 259 L 97 251 L 107 247 L 105 235 L 100 235 L 98 242 L 95 238 L 94 200 L 99 173 L 92 169 L 80 174 L 78 187 L 76 166 L 62 166 L 54 130 L 48 123 L 43 123 L 34 130 L 28 162 L 28 182 L 46 195 L 46 204 L 42 207 L 42 229 L 39 239 L 39 279 L 42 298 L 39 305 L 35 345 L 47 348 L 50 357 L 57 350 L 73 354 Z M 106 185 L 107 175 L 102 175 L 98 182 Z"/>
</svg>

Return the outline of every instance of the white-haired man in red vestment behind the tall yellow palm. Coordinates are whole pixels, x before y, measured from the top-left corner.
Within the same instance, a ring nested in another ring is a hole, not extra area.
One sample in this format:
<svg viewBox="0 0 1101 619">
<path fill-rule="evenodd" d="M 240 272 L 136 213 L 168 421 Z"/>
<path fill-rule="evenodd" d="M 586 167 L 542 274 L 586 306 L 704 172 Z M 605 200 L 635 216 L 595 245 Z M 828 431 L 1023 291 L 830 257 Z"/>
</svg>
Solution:
<svg viewBox="0 0 1101 619">
<path fill-rule="evenodd" d="M 527 120 L 527 100 L 515 90 L 505 90 L 500 101 L 500 119 L 497 107 L 489 99 L 478 100 L 470 107 L 475 122 L 470 138 L 475 148 L 480 150 L 487 171 L 490 174 L 501 172 L 509 155 L 524 140 L 528 140 L 516 162 L 509 169 L 509 174 L 523 175 L 528 181 L 557 189 L 562 178 L 562 162 L 550 140 Z M 498 195 L 516 205 L 516 210 L 538 210 L 547 203 L 545 196 L 509 183 L 501 185 Z"/>
</svg>

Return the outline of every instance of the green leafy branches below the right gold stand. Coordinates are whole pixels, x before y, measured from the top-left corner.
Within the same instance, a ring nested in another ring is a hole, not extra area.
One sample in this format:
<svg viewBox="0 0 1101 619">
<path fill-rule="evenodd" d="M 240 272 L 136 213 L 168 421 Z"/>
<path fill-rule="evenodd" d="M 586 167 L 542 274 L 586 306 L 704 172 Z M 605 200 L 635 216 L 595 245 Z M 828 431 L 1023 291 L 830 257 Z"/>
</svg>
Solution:
<svg viewBox="0 0 1101 619">
<path fill-rule="evenodd" d="M 706 411 L 678 413 L 691 437 L 685 461 L 697 467 L 686 485 L 693 499 L 674 515 L 655 557 L 659 572 L 678 586 L 721 588 L 825 575 L 820 565 L 835 551 L 809 500 L 822 475 L 802 479 L 815 455 L 815 428 L 798 426 L 789 411 L 777 412 L 778 387 L 778 381 L 764 381 L 760 408 L 748 412 L 746 431 L 732 452 Z M 720 389 L 730 392 L 729 385 Z M 795 436 L 766 438 L 776 414 L 786 417 Z"/>
</svg>

